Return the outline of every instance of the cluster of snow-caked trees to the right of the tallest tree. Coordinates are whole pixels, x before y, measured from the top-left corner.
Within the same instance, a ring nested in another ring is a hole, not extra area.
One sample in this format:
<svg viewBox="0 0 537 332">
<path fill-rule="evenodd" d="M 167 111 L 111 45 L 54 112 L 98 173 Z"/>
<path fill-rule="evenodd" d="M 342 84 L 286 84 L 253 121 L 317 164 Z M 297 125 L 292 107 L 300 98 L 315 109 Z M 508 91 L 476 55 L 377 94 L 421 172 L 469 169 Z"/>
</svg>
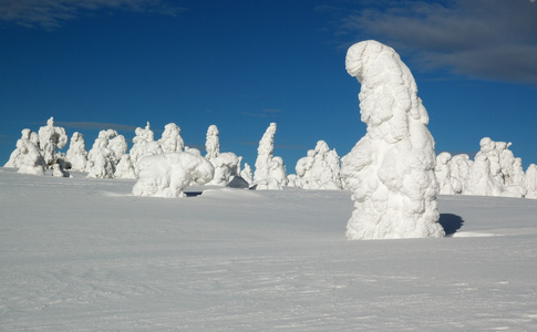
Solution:
<svg viewBox="0 0 537 332">
<path fill-rule="evenodd" d="M 515 158 L 512 143 L 484 137 L 474 160 L 466 154 L 436 157 L 435 174 L 443 195 L 479 195 L 537 199 L 537 166 L 524 172 L 521 158 Z"/>
</svg>

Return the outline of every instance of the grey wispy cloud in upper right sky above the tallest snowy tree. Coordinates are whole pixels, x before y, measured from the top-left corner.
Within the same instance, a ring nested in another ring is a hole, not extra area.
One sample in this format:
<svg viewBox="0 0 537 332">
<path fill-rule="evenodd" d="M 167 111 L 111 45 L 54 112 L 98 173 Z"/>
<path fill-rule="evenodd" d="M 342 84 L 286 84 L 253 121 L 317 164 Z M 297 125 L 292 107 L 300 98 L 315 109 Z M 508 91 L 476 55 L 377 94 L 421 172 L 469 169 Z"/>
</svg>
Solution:
<svg viewBox="0 0 537 332">
<path fill-rule="evenodd" d="M 537 3 L 530 0 L 379 0 L 340 12 L 334 35 L 347 45 L 378 39 L 424 70 L 537 85 Z"/>
</svg>

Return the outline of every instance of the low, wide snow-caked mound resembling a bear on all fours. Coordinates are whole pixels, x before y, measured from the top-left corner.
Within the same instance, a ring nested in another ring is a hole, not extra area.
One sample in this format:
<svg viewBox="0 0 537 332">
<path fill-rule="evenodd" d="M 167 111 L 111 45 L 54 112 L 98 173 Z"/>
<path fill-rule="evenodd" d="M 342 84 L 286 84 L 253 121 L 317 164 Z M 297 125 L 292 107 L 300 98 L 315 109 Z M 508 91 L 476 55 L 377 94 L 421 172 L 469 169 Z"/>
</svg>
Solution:
<svg viewBox="0 0 537 332">
<path fill-rule="evenodd" d="M 206 184 L 215 173 L 207 159 L 187 152 L 146 156 L 138 167 L 138 180 L 133 187 L 136 196 L 184 197 L 190 183 Z"/>
</svg>

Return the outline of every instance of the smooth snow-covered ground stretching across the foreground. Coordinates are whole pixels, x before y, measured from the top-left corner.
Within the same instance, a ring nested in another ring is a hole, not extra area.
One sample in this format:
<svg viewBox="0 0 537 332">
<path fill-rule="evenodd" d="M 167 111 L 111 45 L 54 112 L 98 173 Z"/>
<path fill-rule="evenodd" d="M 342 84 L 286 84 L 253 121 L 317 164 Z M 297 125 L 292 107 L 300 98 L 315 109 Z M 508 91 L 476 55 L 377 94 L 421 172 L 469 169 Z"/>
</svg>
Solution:
<svg viewBox="0 0 537 332">
<path fill-rule="evenodd" d="M 347 191 L 49 175 L 0 168 L 3 331 L 537 330 L 531 199 L 438 196 L 446 238 L 348 241 Z"/>
</svg>

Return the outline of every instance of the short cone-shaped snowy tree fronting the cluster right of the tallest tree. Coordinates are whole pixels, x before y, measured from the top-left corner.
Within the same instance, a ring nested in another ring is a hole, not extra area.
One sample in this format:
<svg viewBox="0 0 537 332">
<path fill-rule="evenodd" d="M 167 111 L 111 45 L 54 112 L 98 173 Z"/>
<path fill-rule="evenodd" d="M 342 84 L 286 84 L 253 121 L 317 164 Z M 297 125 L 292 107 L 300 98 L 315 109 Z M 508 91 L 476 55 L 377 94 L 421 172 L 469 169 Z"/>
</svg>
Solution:
<svg viewBox="0 0 537 332">
<path fill-rule="evenodd" d="M 464 184 L 464 195 L 500 196 L 504 188 L 490 173 L 490 162 L 486 154 L 478 153 L 469 167 L 468 178 Z"/>
</svg>

